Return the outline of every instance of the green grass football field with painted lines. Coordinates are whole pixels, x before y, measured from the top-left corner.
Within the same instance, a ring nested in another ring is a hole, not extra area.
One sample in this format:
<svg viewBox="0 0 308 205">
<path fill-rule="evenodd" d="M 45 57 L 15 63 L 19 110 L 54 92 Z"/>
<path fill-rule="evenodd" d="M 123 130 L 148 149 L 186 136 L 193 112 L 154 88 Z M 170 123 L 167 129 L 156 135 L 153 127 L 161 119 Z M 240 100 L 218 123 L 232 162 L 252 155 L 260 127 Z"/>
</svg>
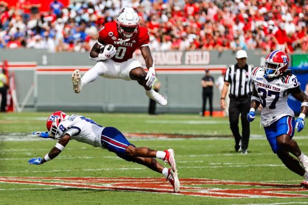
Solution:
<svg viewBox="0 0 308 205">
<path fill-rule="evenodd" d="M 137 147 L 145 146 L 156 150 L 173 148 L 176 151 L 182 188 L 180 194 L 173 194 L 170 192 L 171 186 L 161 174 L 136 163 L 124 161 L 107 150 L 93 148 L 74 140 L 57 158 L 40 166 L 28 165 L 29 158 L 44 157 L 55 145 L 56 141 L 51 139 L 27 140 L 33 139 L 32 131 L 46 129 L 45 120 L 49 114 L 36 112 L 0 115 L 0 204 L 308 203 L 308 190 L 298 186 L 303 178 L 285 168 L 272 153 L 263 128 L 260 128 L 259 118 L 256 118 L 251 126 L 249 153 L 242 155 L 234 151 L 233 138 L 221 137 L 231 135 L 227 118 L 201 118 L 198 115 L 76 113 L 90 117 L 104 127 L 116 127 L 123 133 L 212 136 L 128 138 Z M 308 153 L 308 128 L 296 133 L 294 139 L 301 150 Z M 105 177 L 111 177 L 108 180 L 120 180 L 123 184 L 117 185 L 121 187 L 120 190 L 93 189 L 91 186 L 113 186 L 115 182 L 95 181 L 96 179 L 88 181 L 85 179 L 90 178 L 80 177 L 104 177 L 104 180 Z M 131 191 L 126 188 L 142 187 L 143 180 L 153 180 L 148 189 Z M 191 182 L 193 180 L 203 182 Z M 67 183 L 71 183 L 72 186 L 68 186 Z M 163 193 L 158 193 L 158 188 L 155 187 L 158 184 Z M 77 187 L 80 185 L 83 187 Z M 192 194 L 187 195 L 190 192 Z M 199 196 L 208 193 L 219 193 L 220 197 Z M 271 195 L 272 193 L 274 195 Z"/>
</svg>

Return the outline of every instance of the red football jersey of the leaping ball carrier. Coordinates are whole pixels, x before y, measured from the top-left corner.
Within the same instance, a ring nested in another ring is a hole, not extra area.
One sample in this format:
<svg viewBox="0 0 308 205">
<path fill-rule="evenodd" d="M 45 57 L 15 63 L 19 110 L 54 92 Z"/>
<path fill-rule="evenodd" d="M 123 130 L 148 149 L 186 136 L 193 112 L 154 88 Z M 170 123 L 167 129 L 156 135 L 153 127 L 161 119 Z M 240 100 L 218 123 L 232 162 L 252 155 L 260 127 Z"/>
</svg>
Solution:
<svg viewBox="0 0 308 205">
<path fill-rule="evenodd" d="M 122 63 L 132 58 L 133 52 L 142 45 L 149 43 L 148 30 L 139 26 L 138 33 L 127 39 L 118 33 L 117 23 L 108 22 L 100 30 L 100 37 L 104 44 L 111 44 L 117 49 L 117 53 L 111 58 L 115 62 Z"/>
</svg>

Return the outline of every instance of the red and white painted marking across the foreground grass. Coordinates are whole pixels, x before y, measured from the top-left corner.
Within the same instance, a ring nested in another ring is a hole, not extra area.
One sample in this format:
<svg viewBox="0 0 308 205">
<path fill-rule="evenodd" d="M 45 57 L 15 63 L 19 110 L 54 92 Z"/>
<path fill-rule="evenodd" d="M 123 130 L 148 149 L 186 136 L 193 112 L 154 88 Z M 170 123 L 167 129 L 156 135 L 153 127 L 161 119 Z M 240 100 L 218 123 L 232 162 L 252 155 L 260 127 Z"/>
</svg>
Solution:
<svg viewBox="0 0 308 205">
<path fill-rule="evenodd" d="M 230 181 L 217 179 L 181 178 L 181 190 L 174 193 L 171 185 L 162 178 L 134 177 L 0 177 L 0 183 L 55 186 L 94 190 L 113 190 L 128 192 L 169 193 L 189 196 L 219 198 L 306 198 L 307 190 L 299 185 L 280 183 L 263 183 L 247 181 Z M 247 189 L 205 188 L 204 185 L 237 185 L 249 186 Z M 197 186 L 197 187 L 196 187 Z M 251 188 L 253 187 L 253 188 Z M 290 192 L 296 192 L 290 193 Z M 282 203 L 283 204 L 283 203 Z"/>
</svg>

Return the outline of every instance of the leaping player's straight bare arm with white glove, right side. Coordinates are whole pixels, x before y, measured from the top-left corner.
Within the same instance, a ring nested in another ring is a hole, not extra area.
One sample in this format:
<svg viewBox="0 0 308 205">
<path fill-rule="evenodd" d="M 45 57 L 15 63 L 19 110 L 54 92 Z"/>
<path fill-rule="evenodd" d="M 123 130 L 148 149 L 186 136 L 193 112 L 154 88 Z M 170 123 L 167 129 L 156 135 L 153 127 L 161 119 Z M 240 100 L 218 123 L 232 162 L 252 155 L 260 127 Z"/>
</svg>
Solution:
<svg viewBox="0 0 308 205">
<path fill-rule="evenodd" d="M 156 73 L 155 73 L 155 67 L 153 62 L 153 57 L 151 54 L 151 50 L 149 46 L 141 46 L 140 47 L 141 54 L 145 60 L 145 65 L 149 69 L 149 72 L 147 73 L 145 79 L 147 80 L 146 85 L 149 87 L 152 87 L 155 83 L 156 79 Z"/>
</svg>

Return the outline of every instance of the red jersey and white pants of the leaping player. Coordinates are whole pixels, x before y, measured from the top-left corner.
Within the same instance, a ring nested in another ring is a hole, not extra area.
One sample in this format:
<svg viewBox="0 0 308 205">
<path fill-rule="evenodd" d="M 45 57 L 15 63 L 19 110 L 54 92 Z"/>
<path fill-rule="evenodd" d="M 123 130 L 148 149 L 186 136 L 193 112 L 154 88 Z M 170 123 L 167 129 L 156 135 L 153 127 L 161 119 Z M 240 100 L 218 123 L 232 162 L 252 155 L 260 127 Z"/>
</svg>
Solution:
<svg viewBox="0 0 308 205">
<path fill-rule="evenodd" d="M 117 23 L 109 22 L 101 29 L 99 35 L 103 40 L 99 44 L 111 44 L 117 49 L 117 52 L 110 59 L 97 61 L 92 69 L 105 78 L 131 80 L 129 72 L 134 68 L 142 67 L 140 61 L 132 58 L 132 54 L 137 48 L 148 46 L 148 30 L 139 26 L 136 35 L 131 38 L 123 38 L 118 33 Z"/>
</svg>

